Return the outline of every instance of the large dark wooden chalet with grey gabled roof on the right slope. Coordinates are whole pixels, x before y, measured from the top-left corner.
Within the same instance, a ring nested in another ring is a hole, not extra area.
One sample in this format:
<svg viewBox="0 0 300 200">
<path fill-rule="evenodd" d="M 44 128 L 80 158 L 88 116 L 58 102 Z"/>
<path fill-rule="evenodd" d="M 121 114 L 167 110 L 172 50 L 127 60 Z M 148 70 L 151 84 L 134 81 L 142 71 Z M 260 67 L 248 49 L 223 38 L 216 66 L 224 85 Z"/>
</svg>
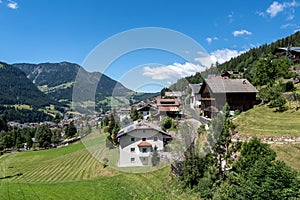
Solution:
<svg viewBox="0 0 300 200">
<path fill-rule="evenodd" d="M 200 89 L 201 110 L 208 118 L 222 110 L 225 103 L 231 111 L 246 111 L 257 104 L 257 92 L 247 79 L 205 79 Z"/>
</svg>

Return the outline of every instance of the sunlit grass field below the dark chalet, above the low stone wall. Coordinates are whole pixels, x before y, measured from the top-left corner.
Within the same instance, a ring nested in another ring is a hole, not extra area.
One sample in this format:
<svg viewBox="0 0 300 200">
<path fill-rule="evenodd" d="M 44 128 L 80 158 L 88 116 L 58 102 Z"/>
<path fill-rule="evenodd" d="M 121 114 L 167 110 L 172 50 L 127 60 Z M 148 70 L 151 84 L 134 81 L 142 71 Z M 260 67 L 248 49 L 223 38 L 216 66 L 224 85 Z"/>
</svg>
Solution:
<svg viewBox="0 0 300 200">
<path fill-rule="evenodd" d="M 274 112 L 260 105 L 241 113 L 233 122 L 240 135 L 300 136 L 300 110 Z"/>
</svg>

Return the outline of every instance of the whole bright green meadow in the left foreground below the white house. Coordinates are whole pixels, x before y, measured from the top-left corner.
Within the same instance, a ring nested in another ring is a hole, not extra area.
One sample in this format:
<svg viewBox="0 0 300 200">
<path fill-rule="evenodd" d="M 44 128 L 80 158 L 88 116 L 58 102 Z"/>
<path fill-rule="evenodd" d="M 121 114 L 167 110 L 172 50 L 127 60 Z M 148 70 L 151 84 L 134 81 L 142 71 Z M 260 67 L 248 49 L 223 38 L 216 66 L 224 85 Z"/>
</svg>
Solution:
<svg viewBox="0 0 300 200">
<path fill-rule="evenodd" d="M 93 137 L 57 149 L 2 156 L 0 199 L 197 199 L 174 186 L 169 167 L 139 174 L 103 168 L 102 156 L 111 165 L 116 156 L 103 148 L 95 151 L 103 147 L 105 136 Z"/>
</svg>

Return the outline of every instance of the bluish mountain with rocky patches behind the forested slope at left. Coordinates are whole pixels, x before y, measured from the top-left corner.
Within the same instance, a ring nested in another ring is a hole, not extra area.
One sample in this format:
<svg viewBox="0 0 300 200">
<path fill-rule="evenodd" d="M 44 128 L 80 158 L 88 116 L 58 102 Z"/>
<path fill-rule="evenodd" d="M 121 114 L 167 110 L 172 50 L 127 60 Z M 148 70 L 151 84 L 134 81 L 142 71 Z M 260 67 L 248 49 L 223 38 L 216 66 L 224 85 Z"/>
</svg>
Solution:
<svg viewBox="0 0 300 200">
<path fill-rule="evenodd" d="M 151 96 L 151 94 L 136 94 L 134 91 L 126 88 L 121 83 L 111 79 L 100 72 L 89 73 L 86 72 L 80 65 L 60 62 L 60 63 L 41 63 L 28 64 L 18 63 L 13 66 L 21 69 L 27 77 L 45 94 L 53 97 L 60 102 L 67 104 L 72 101 L 73 87 L 75 79 L 79 70 L 83 70 L 91 77 L 100 77 L 96 89 L 96 107 L 108 110 L 111 108 L 111 97 L 118 96 L 114 100 L 114 104 L 122 106 L 123 104 L 134 103 L 144 100 Z M 117 93 L 116 93 L 117 91 Z M 156 94 L 153 94 L 154 96 Z"/>
</svg>

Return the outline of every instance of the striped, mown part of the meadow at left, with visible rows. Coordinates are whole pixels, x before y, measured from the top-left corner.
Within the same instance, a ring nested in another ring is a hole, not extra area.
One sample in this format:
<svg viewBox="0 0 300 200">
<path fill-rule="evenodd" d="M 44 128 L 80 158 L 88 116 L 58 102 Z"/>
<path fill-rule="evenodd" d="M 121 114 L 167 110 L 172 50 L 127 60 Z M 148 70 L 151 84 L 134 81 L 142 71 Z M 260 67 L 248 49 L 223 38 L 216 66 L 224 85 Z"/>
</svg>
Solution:
<svg viewBox="0 0 300 200">
<path fill-rule="evenodd" d="M 14 176 L 10 181 L 54 183 L 86 180 L 112 175 L 103 169 L 82 143 L 55 150 L 14 153 L 1 159 L 0 177 Z"/>
</svg>

